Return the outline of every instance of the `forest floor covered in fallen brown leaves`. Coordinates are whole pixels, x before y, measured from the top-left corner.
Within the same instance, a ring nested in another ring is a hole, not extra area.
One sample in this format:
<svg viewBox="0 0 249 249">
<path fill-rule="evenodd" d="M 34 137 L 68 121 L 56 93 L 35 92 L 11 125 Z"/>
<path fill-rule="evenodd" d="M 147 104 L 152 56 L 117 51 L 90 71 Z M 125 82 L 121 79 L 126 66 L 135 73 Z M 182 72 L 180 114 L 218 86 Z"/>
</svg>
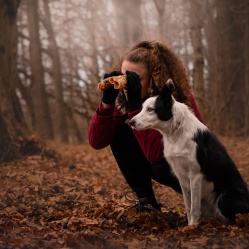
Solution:
<svg viewBox="0 0 249 249">
<path fill-rule="evenodd" d="M 248 139 L 220 138 L 249 182 Z M 249 215 L 186 226 L 182 196 L 153 182 L 162 212 L 135 213 L 106 148 L 47 143 L 0 167 L 0 248 L 249 248 Z"/>
</svg>

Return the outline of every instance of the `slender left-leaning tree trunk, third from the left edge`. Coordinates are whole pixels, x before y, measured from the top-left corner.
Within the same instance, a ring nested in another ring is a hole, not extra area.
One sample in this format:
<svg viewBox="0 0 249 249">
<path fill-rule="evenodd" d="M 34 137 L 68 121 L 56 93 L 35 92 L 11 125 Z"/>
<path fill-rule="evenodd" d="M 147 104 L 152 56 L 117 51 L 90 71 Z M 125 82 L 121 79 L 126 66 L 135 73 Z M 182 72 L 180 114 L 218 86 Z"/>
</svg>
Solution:
<svg viewBox="0 0 249 249">
<path fill-rule="evenodd" d="M 56 98 L 56 106 L 57 106 L 57 125 L 58 125 L 58 133 L 60 137 L 60 141 L 68 142 L 68 133 L 67 133 L 67 122 L 66 122 L 66 113 L 65 113 L 65 105 L 63 101 L 63 88 L 62 88 L 62 74 L 61 74 L 61 62 L 59 49 L 55 40 L 55 34 L 51 22 L 51 15 L 48 5 L 48 0 L 43 0 L 44 10 L 45 10 L 45 18 L 44 23 L 49 35 L 50 41 L 50 51 L 52 53 L 53 60 L 53 79 L 55 83 L 55 98 Z"/>
</svg>

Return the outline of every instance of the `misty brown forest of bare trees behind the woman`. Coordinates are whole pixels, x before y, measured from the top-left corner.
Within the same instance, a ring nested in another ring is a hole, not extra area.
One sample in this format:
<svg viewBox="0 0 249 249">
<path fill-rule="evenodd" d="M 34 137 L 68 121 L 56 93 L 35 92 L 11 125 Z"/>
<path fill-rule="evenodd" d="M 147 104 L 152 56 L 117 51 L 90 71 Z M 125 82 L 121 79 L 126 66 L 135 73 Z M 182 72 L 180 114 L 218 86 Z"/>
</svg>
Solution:
<svg viewBox="0 0 249 249">
<path fill-rule="evenodd" d="M 248 136 L 248 0 L 0 0 L 0 162 L 33 134 L 88 143 L 104 73 L 155 39 L 185 62 L 207 126 Z"/>
</svg>

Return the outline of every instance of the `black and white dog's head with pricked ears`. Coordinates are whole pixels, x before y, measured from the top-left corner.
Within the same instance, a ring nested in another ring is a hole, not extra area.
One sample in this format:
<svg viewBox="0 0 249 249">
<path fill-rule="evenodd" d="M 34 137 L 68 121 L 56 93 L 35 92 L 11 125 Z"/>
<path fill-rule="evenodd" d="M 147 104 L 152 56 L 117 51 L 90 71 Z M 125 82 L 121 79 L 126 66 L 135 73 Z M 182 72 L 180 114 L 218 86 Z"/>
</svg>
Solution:
<svg viewBox="0 0 249 249">
<path fill-rule="evenodd" d="M 141 112 L 130 120 L 130 125 L 136 130 L 157 129 L 160 128 L 159 123 L 170 120 L 173 116 L 174 89 L 173 81 L 169 79 L 158 96 L 150 97 L 144 102 Z"/>
</svg>

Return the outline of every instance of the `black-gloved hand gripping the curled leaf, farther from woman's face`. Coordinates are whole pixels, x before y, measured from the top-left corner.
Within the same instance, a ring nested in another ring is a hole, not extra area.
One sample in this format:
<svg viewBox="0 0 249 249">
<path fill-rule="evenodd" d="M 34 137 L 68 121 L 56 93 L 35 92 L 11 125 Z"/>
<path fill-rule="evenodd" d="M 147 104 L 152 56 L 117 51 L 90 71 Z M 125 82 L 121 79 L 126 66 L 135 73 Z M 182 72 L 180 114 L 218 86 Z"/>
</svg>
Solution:
<svg viewBox="0 0 249 249">
<path fill-rule="evenodd" d="M 113 77 L 113 76 L 119 76 L 119 75 L 123 75 L 123 74 L 119 71 L 113 71 L 109 74 L 105 74 L 104 79 Z M 114 89 L 114 86 L 111 85 L 111 87 L 103 91 L 102 102 L 107 105 L 114 105 L 115 100 L 118 97 L 118 93 L 119 93 L 119 89 Z"/>
</svg>

